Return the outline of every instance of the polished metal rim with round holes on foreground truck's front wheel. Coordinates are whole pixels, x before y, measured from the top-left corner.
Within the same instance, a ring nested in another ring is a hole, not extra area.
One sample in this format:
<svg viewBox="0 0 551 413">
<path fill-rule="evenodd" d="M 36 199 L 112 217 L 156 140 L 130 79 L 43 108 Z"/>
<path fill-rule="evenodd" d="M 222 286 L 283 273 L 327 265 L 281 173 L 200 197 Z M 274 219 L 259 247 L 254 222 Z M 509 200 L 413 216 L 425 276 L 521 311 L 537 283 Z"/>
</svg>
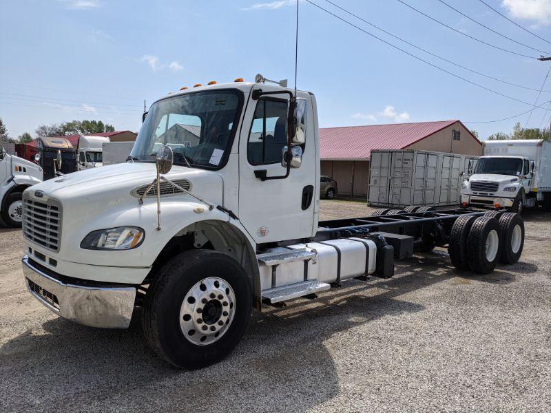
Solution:
<svg viewBox="0 0 551 413">
<path fill-rule="evenodd" d="M 218 341 L 236 312 L 236 295 L 225 279 L 209 277 L 189 289 L 180 307 L 180 328 L 198 346 Z"/>
</svg>

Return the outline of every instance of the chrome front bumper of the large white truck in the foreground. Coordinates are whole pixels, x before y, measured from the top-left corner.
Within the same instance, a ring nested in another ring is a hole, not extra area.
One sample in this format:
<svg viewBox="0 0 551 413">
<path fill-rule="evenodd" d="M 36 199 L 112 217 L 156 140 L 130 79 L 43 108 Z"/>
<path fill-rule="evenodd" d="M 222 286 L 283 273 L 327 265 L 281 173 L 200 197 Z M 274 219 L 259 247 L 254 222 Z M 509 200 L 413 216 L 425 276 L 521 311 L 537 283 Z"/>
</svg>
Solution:
<svg viewBox="0 0 551 413">
<path fill-rule="evenodd" d="M 83 326 L 128 328 L 136 288 L 64 284 L 35 268 L 27 255 L 21 262 L 29 292 L 56 315 Z"/>
</svg>

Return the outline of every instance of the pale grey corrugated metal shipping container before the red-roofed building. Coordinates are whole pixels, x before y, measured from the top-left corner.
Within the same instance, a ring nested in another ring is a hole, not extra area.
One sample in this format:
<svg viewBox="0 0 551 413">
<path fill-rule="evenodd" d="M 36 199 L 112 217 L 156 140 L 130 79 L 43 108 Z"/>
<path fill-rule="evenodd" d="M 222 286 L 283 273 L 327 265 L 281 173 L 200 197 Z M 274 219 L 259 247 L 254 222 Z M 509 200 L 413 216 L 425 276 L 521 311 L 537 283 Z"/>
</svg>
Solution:
<svg viewBox="0 0 551 413">
<path fill-rule="evenodd" d="M 371 151 L 367 203 L 377 207 L 459 204 L 461 182 L 472 175 L 477 159 L 416 149 Z"/>
</svg>

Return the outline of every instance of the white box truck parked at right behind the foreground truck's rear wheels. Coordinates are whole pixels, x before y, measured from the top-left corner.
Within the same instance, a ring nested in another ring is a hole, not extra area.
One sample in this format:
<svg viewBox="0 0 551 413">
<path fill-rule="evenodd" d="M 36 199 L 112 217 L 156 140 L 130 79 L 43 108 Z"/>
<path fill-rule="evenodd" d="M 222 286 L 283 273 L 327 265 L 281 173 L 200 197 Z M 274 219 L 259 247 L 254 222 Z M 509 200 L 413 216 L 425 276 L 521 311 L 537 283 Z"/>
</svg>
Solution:
<svg viewBox="0 0 551 413">
<path fill-rule="evenodd" d="M 461 186 L 461 204 L 521 213 L 551 211 L 551 142 L 487 140 L 475 173 Z"/>
</svg>

